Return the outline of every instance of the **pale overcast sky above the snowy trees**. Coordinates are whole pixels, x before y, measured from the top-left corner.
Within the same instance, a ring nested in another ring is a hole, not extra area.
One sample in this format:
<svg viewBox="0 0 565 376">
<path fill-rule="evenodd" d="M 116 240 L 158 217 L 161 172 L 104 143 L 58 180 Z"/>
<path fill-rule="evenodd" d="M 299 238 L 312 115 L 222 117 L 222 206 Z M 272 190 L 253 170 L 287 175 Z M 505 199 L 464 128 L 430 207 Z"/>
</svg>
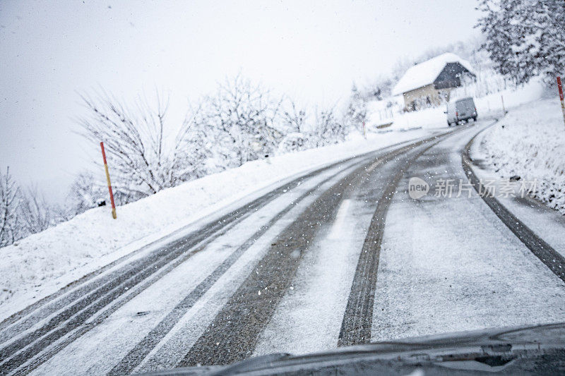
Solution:
<svg viewBox="0 0 565 376">
<path fill-rule="evenodd" d="M 157 87 L 172 112 L 241 72 L 328 104 L 403 56 L 476 35 L 476 0 L 0 2 L 0 168 L 61 202 L 98 145 L 77 92 Z M 103 174 L 103 171 L 101 171 Z"/>
</svg>

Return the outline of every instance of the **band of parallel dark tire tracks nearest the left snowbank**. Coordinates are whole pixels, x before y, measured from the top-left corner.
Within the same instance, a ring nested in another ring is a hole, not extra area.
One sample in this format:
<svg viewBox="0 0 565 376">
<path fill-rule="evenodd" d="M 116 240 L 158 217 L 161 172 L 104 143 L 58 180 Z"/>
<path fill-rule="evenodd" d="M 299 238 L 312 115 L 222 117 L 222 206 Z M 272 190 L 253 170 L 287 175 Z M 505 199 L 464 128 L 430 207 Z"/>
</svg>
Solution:
<svg viewBox="0 0 565 376">
<path fill-rule="evenodd" d="M 394 146 L 396 145 L 386 147 L 385 150 L 390 150 Z M 408 147 L 411 146 L 409 145 Z M 292 189 L 293 186 L 301 183 L 304 179 L 316 176 L 322 171 L 345 162 L 362 160 L 371 155 L 374 156 L 378 152 L 379 150 L 351 157 L 296 178 L 290 183 L 254 200 L 249 205 L 240 207 L 220 217 L 220 219 L 210 222 L 198 231 L 193 231 L 182 239 L 172 241 L 169 245 L 160 248 L 160 250 L 135 260 L 117 271 L 103 275 L 100 279 L 90 281 L 90 279 L 94 279 L 98 274 L 102 274 L 102 272 L 109 269 L 110 266 L 115 265 L 116 262 L 107 267 L 102 267 L 97 272 L 88 274 L 78 280 L 86 280 L 85 283 L 87 284 L 71 291 L 68 296 L 64 296 L 64 291 L 68 291 L 69 286 L 78 284 L 78 281 L 64 287 L 57 293 L 52 294 L 52 296 L 42 299 L 30 306 L 30 308 L 25 308 L 20 313 L 8 317 L 8 319 L 1 323 L 1 326 L 7 327 L 5 330 L 10 332 L 11 338 L 13 338 L 13 332 L 16 332 L 16 335 L 18 335 L 18 333 L 25 332 L 34 325 L 37 327 L 37 324 L 42 320 L 47 322 L 44 322 L 38 329 L 32 329 L 32 332 L 24 334 L 20 339 L 13 340 L 7 346 L 0 349 L 0 359 L 2 362 L 0 364 L 0 375 L 8 374 L 24 364 L 25 367 L 18 370 L 18 373 L 25 374 L 35 369 L 45 360 L 51 358 L 57 351 L 61 350 L 61 348 L 64 348 L 71 341 L 100 324 L 108 315 L 148 288 L 157 279 L 178 265 L 179 261 L 186 260 L 194 252 L 198 251 L 198 249 L 194 249 L 199 245 L 198 241 L 201 243 L 212 241 L 213 238 L 223 234 L 229 226 L 237 224 L 247 214 L 256 210 L 257 207 L 266 205 L 270 200 L 274 200 L 278 195 L 284 193 L 285 190 Z M 58 299 L 61 295 L 62 298 Z M 42 302 L 44 302 L 44 305 L 42 305 Z M 65 305 L 67 306 L 65 307 Z M 53 313 L 54 315 L 52 315 Z M 19 317 L 23 317 L 23 322 L 18 323 Z M 11 326 L 14 323 L 16 325 Z M 3 334 L 6 334 L 6 331 Z"/>
</svg>

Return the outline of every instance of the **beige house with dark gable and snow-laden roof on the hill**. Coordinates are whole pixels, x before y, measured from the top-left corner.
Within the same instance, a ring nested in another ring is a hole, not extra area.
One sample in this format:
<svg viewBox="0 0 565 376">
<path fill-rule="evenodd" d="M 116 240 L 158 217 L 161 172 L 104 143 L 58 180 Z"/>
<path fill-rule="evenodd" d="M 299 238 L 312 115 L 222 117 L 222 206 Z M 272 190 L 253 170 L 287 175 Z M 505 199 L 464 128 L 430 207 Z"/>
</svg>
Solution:
<svg viewBox="0 0 565 376">
<path fill-rule="evenodd" d="M 393 95 L 403 95 L 406 111 L 438 106 L 449 100 L 449 92 L 461 86 L 461 78 L 475 78 L 470 63 L 446 53 L 412 66 L 393 87 Z"/>
</svg>

